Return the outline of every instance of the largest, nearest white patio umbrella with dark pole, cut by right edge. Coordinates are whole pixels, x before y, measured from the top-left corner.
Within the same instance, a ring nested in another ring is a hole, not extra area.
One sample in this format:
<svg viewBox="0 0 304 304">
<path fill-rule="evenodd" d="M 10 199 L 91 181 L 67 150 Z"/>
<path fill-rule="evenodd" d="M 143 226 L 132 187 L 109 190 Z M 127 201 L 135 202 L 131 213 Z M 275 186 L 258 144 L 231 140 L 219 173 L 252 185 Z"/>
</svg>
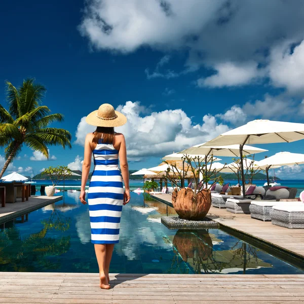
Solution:
<svg viewBox="0 0 304 304">
<path fill-rule="evenodd" d="M 243 159 L 243 149 L 246 143 L 292 142 L 300 139 L 304 139 L 304 124 L 254 120 L 246 125 L 222 133 L 216 138 L 206 142 L 204 146 L 238 144 L 240 148 L 240 158 Z M 243 162 L 241 162 L 241 167 L 243 194 L 245 194 Z"/>
</svg>

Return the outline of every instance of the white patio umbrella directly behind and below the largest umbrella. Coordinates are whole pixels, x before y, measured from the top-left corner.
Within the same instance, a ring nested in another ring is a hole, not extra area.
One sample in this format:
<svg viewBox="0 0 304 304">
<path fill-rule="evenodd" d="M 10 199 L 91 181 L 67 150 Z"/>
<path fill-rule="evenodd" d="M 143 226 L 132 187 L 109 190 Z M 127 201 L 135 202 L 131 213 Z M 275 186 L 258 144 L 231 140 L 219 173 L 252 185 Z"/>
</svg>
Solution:
<svg viewBox="0 0 304 304">
<path fill-rule="evenodd" d="M 265 151 L 268 150 L 244 145 L 243 155 L 256 154 Z M 205 154 L 205 155 L 216 155 L 216 156 L 227 156 L 227 157 L 240 157 L 240 146 L 238 144 L 213 146 L 209 144 L 207 145 L 206 142 L 203 142 L 193 147 L 182 150 L 178 152 L 178 154 Z"/>
</svg>

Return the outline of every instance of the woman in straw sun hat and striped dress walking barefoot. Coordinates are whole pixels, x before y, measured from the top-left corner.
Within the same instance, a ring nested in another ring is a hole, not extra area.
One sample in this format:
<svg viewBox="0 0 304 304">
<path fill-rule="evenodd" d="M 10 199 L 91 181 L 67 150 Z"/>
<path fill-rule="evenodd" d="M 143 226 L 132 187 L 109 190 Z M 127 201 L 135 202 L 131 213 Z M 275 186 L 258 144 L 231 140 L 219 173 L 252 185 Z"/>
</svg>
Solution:
<svg viewBox="0 0 304 304">
<path fill-rule="evenodd" d="M 126 141 L 123 134 L 114 132 L 114 127 L 124 125 L 127 118 L 104 103 L 87 116 L 86 122 L 97 128 L 86 136 L 79 198 L 87 204 L 85 187 L 93 153 L 94 171 L 88 192 L 91 239 L 98 261 L 100 288 L 109 289 L 109 267 L 114 244 L 119 242 L 122 206 L 130 201 Z"/>
</svg>

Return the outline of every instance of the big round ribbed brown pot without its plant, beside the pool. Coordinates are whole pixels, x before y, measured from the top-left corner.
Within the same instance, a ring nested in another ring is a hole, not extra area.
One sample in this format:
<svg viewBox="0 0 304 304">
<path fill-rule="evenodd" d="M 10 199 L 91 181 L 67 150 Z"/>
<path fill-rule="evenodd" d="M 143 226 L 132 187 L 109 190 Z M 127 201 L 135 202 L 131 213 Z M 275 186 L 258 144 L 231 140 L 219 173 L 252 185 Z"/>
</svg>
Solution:
<svg viewBox="0 0 304 304">
<path fill-rule="evenodd" d="M 172 204 L 180 218 L 202 220 L 211 207 L 211 191 L 203 189 L 194 198 L 192 189 L 182 188 L 177 191 L 175 188 L 172 193 Z"/>
</svg>

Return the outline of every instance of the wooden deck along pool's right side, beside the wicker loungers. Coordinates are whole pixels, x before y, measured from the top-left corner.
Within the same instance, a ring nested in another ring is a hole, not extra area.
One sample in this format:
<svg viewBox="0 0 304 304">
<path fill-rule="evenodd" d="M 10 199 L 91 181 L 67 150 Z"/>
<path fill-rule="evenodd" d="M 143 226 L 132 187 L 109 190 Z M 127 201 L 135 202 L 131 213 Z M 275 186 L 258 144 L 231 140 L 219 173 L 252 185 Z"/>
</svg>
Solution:
<svg viewBox="0 0 304 304">
<path fill-rule="evenodd" d="M 171 204 L 171 195 L 151 195 L 159 201 Z M 242 234 L 247 234 L 262 242 L 290 252 L 292 255 L 304 258 L 304 229 L 288 229 L 273 225 L 271 221 L 263 222 L 253 219 L 250 214 L 234 214 L 227 212 L 225 208 L 211 206 L 207 217 L 219 224 L 234 229 Z"/>
</svg>

